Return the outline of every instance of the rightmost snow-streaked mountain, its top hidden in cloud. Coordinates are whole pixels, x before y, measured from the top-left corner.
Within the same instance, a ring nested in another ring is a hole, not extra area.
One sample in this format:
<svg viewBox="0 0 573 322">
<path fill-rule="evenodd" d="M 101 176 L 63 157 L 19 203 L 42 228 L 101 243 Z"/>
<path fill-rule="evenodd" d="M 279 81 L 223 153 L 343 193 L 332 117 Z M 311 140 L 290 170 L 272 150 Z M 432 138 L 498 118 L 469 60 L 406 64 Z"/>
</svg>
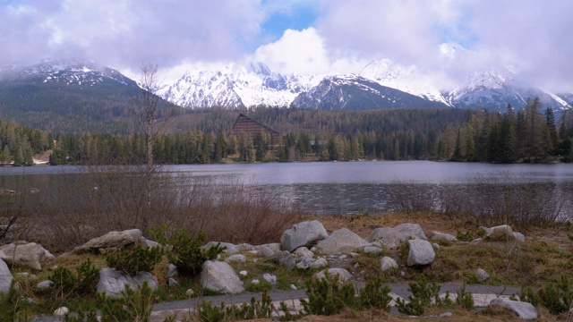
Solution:
<svg viewBox="0 0 573 322">
<path fill-rule="evenodd" d="M 569 107 L 568 103 L 556 94 L 517 85 L 516 77 L 517 74 L 508 68 L 474 72 L 468 77 L 466 84 L 449 92 L 448 102 L 451 106 L 461 108 L 483 107 L 503 111 L 508 104 L 521 108 L 526 106 L 527 98 L 539 97 L 544 107 L 552 107 L 556 111 Z"/>
</svg>

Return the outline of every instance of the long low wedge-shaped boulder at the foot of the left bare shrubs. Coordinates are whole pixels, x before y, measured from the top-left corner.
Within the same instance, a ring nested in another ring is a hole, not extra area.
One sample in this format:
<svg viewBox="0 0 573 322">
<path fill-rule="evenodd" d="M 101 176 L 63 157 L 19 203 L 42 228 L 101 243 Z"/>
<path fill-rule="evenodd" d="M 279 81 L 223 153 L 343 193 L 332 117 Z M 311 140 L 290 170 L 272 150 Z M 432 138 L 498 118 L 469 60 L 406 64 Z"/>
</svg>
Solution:
<svg viewBox="0 0 573 322">
<path fill-rule="evenodd" d="M 130 229 L 121 232 L 109 232 L 103 236 L 96 237 L 72 250 L 75 254 L 85 252 L 95 254 L 108 254 L 141 242 L 141 230 Z"/>
</svg>

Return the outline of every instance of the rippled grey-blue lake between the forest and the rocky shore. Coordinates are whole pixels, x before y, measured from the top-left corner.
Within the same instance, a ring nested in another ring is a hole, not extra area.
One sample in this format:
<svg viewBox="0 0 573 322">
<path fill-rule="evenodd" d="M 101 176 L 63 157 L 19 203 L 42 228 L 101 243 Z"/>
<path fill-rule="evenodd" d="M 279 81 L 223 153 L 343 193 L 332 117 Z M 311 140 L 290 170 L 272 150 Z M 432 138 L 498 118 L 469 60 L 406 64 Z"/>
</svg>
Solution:
<svg viewBox="0 0 573 322">
<path fill-rule="evenodd" d="M 0 187 L 19 191 L 23 186 L 34 186 L 37 182 L 74 180 L 71 179 L 73 174 L 79 174 L 83 169 L 75 166 L 6 167 L 0 169 Z M 319 215 L 375 214 L 425 207 L 423 204 L 448 208 L 463 203 L 468 209 L 481 209 L 503 198 L 519 203 L 543 203 L 544 208 L 538 211 L 548 211 L 545 208 L 555 205 L 559 209 L 551 211 L 559 211 L 560 217 L 573 217 L 570 213 L 573 208 L 573 165 L 569 164 L 364 161 L 169 165 L 164 171 L 175 176 L 189 174 L 213 184 L 240 182 L 253 193 L 268 193 L 304 212 Z"/>
</svg>

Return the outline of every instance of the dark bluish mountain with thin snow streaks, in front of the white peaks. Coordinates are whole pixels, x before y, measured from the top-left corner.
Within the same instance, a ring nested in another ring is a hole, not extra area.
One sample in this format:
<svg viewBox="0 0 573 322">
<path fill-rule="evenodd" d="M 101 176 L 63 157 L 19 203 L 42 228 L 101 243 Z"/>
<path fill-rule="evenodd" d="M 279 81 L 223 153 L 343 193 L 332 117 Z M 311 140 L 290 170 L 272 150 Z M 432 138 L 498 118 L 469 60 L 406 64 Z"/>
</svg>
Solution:
<svg viewBox="0 0 573 322">
<path fill-rule="evenodd" d="M 325 110 L 365 110 L 401 107 L 446 107 L 444 103 L 382 86 L 358 75 L 327 76 L 295 98 L 292 107 Z"/>
</svg>

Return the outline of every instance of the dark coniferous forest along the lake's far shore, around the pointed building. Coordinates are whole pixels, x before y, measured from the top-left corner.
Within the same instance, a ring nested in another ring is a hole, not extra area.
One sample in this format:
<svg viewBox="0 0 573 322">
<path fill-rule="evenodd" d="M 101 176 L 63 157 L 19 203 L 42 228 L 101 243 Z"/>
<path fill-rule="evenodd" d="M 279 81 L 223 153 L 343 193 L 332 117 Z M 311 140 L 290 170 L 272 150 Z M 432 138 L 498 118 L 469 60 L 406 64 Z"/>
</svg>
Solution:
<svg viewBox="0 0 573 322">
<path fill-rule="evenodd" d="M 229 136 L 242 112 L 278 131 Z M 569 162 L 573 114 L 556 119 L 538 98 L 503 113 L 483 109 L 317 111 L 260 106 L 248 111 L 190 110 L 190 126 L 167 126 L 153 140 L 158 164 L 350 160 L 440 160 L 490 163 Z M 146 157 L 141 133 L 49 133 L 0 123 L 2 162 L 31 165 L 31 156 L 52 149 L 52 165 L 137 164 Z M 182 131 L 181 129 L 185 129 Z"/>
</svg>

